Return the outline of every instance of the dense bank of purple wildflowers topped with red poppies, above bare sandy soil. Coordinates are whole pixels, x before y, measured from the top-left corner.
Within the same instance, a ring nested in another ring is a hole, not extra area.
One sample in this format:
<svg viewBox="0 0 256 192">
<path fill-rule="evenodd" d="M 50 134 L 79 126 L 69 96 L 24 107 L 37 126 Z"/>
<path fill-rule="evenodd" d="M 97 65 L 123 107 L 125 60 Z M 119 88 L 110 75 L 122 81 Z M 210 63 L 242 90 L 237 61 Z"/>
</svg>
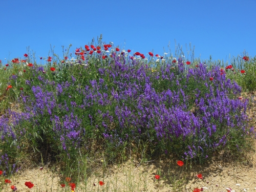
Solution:
<svg viewBox="0 0 256 192">
<path fill-rule="evenodd" d="M 18 105 L 0 117 L 0 169 L 6 174 L 26 153 L 74 160 L 101 151 L 112 161 L 136 146 L 204 163 L 221 151 L 240 153 L 255 134 L 248 100 L 226 77 L 232 66 L 152 52 L 146 57 L 111 44 L 74 53 L 48 56 L 45 65 L 27 53 L 3 63 L 1 75 L 8 78 L 2 96 Z"/>
</svg>

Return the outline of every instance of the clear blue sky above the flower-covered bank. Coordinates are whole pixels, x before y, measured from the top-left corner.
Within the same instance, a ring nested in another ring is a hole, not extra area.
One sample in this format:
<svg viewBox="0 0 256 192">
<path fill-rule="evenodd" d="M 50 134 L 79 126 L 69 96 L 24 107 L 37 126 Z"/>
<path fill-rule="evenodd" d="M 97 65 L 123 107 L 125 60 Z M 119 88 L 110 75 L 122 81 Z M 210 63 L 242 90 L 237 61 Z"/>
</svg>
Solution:
<svg viewBox="0 0 256 192">
<path fill-rule="evenodd" d="M 146 54 L 195 46 L 195 57 L 228 60 L 256 55 L 255 0 L 0 0 L 0 59 L 23 57 L 27 47 L 62 55 L 102 34 L 106 43 Z M 39 59 L 39 57 L 38 57 Z"/>
</svg>

